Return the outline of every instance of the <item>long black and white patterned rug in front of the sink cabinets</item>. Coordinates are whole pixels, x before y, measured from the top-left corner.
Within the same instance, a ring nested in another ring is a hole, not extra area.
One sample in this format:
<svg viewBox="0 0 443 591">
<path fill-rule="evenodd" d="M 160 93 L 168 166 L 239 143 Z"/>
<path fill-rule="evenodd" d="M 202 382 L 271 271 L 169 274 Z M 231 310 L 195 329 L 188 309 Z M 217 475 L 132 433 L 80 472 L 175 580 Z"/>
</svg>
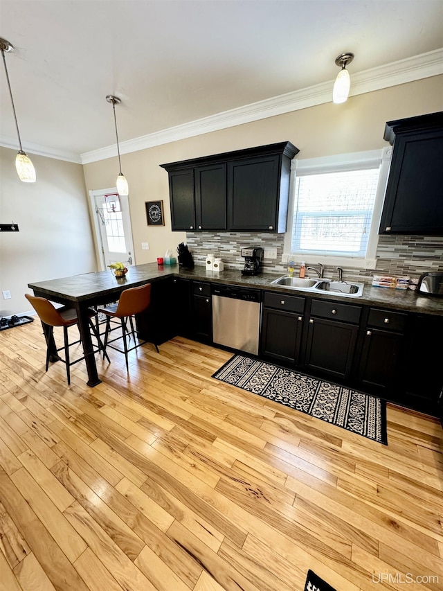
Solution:
<svg viewBox="0 0 443 591">
<path fill-rule="evenodd" d="M 386 403 L 291 369 L 234 355 L 213 378 L 387 445 Z"/>
</svg>

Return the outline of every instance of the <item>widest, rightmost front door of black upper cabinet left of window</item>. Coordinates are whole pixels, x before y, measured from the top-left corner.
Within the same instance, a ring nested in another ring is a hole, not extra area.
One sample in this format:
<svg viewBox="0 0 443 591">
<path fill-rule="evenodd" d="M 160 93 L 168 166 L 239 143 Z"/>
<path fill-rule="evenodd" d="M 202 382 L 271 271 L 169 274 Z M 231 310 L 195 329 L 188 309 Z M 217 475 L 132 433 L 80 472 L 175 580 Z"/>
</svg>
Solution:
<svg viewBox="0 0 443 591">
<path fill-rule="evenodd" d="M 228 162 L 228 229 L 277 231 L 279 155 Z"/>
</svg>

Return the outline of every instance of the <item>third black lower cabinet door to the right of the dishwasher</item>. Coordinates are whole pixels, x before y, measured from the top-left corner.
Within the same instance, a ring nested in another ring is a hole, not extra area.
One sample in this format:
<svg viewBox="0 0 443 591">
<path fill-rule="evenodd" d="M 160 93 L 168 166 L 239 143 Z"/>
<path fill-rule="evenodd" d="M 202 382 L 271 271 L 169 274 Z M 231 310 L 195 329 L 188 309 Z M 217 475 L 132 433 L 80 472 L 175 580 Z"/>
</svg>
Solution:
<svg viewBox="0 0 443 591">
<path fill-rule="evenodd" d="M 357 376 L 359 385 L 365 391 L 399 402 L 399 361 L 403 346 L 402 334 L 377 328 L 365 330 Z"/>
</svg>

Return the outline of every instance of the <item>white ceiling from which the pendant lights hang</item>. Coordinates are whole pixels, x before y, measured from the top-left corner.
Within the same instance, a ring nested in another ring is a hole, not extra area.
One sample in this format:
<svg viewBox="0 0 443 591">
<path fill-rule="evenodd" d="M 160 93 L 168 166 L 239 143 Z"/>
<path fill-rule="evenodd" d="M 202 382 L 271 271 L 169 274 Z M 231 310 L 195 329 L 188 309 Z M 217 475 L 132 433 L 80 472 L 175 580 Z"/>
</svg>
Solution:
<svg viewBox="0 0 443 591">
<path fill-rule="evenodd" d="M 154 134 L 443 47 L 442 0 L 0 0 L 24 149 Z M 0 143 L 17 146 L 3 64 Z"/>
</svg>

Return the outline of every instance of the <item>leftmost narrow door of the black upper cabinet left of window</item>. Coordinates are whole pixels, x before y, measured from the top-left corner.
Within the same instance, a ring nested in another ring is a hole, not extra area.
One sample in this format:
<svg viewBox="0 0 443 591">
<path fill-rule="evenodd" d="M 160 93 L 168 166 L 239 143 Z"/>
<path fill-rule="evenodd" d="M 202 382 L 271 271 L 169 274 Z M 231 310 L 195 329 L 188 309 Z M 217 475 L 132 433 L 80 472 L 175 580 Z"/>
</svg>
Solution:
<svg viewBox="0 0 443 591">
<path fill-rule="evenodd" d="M 195 229 L 194 170 L 172 170 L 169 173 L 172 230 Z"/>
</svg>

